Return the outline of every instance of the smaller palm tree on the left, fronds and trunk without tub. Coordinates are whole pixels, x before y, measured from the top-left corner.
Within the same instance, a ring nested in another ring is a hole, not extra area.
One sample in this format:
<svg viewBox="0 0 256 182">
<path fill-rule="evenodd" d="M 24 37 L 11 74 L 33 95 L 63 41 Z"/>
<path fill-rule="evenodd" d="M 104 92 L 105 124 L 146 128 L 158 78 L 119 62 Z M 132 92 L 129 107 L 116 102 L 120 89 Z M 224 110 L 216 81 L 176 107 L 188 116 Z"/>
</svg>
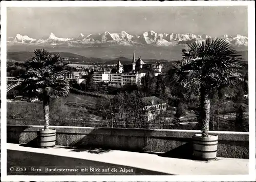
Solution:
<svg viewBox="0 0 256 182">
<path fill-rule="evenodd" d="M 52 54 L 44 49 L 34 51 L 35 56 L 26 61 L 27 73 L 18 78 L 24 91 L 38 96 L 44 106 L 45 130 L 49 129 L 49 103 L 52 98 L 59 98 L 69 94 L 69 85 L 64 75 L 67 64 L 59 54 Z"/>
</svg>

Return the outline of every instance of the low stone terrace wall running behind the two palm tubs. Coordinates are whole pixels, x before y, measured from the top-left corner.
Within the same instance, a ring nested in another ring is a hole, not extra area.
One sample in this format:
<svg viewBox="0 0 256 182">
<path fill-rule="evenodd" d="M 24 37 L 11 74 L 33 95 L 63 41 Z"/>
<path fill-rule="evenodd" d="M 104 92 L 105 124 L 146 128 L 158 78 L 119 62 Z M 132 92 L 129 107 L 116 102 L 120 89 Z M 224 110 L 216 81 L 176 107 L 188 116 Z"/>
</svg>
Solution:
<svg viewBox="0 0 256 182">
<path fill-rule="evenodd" d="M 7 142 L 36 146 L 36 130 L 42 126 L 7 126 Z M 191 136 L 199 130 L 91 128 L 52 126 L 57 129 L 56 145 L 100 147 L 162 156 L 189 158 Z M 249 158 L 249 133 L 210 131 L 219 136 L 218 157 Z"/>
</svg>

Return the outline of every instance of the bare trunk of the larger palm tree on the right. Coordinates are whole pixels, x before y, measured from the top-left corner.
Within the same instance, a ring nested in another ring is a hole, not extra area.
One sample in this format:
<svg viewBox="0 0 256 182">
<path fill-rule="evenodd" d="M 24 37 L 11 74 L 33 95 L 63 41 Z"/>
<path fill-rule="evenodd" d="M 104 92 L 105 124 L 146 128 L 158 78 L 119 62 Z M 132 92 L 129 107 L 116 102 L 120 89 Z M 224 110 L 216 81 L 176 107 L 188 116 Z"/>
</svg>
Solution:
<svg viewBox="0 0 256 182">
<path fill-rule="evenodd" d="M 210 122 L 210 99 L 204 87 L 201 86 L 200 91 L 201 91 L 200 97 L 201 97 L 202 137 L 207 137 L 208 131 L 209 131 L 209 122 Z"/>
</svg>

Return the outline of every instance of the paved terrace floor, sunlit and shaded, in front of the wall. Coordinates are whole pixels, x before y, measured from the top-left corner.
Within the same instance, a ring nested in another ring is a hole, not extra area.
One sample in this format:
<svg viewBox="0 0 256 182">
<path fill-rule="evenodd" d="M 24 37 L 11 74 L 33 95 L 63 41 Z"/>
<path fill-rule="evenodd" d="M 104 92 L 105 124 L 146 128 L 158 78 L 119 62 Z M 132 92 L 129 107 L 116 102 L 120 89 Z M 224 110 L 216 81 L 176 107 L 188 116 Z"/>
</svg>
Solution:
<svg viewBox="0 0 256 182">
<path fill-rule="evenodd" d="M 133 169 L 136 175 L 234 175 L 248 174 L 249 160 L 241 158 L 223 158 L 211 162 L 169 158 L 160 153 L 139 153 L 101 148 L 81 148 L 56 146 L 50 149 L 24 147 L 19 144 L 7 144 L 7 175 L 13 175 L 10 167 L 94 167 Z M 25 175 L 24 173 L 16 173 Z M 33 172 L 26 175 L 77 175 L 81 173 Z M 119 173 L 132 175 L 132 173 Z M 86 175 L 86 174 L 81 174 Z M 95 174 L 94 174 L 95 175 Z M 102 174 L 106 175 L 106 174 Z M 113 173 L 112 173 L 113 175 Z M 117 175 L 117 174 L 115 174 Z"/>
</svg>

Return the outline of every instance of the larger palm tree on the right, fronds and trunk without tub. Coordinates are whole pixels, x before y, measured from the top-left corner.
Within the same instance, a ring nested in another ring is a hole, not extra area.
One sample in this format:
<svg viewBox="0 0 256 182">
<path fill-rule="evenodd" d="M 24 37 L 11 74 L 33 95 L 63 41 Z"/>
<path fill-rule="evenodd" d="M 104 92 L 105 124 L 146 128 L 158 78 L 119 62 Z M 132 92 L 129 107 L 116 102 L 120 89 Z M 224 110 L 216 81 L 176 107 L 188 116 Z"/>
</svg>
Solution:
<svg viewBox="0 0 256 182">
<path fill-rule="evenodd" d="M 174 62 L 168 70 L 167 79 L 170 86 L 183 88 L 185 99 L 200 99 L 202 137 L 207 137 L 211 96 L 223 87 L 240 85 L 241 70 L 247 63 L 223 39 L 206 39 L 187 45 L 188 50 L 182 50 L 183 59 Z"/>
</svg>

